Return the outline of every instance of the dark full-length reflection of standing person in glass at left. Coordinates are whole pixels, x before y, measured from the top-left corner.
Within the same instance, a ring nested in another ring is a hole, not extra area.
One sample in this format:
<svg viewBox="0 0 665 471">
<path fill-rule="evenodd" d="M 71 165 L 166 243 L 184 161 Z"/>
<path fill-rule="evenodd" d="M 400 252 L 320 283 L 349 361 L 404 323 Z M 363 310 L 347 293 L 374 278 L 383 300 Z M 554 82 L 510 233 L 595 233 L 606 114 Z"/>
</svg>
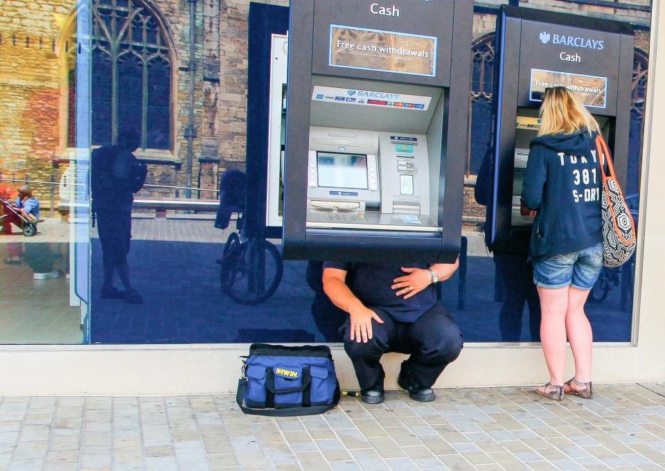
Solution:
<svg viewBox="0 0 665 471">
<path fill-rule="evenodd" d="M 143 297 L 130 282 L 127 254 L 132 238 L 132 204 L 134 193 L 145 183 L 148 168 L 134 152 L 141 145 L 140 134 L 128 130 L 118 136 L 117 145 L 103 145 L 92 152 L 92 211 L 102 244 L 104 261 L 103 299 L 124 299 L 127 303 L 143 303 Z M 123 290 L 113 284 L 117 273 Z"/>
</svg>

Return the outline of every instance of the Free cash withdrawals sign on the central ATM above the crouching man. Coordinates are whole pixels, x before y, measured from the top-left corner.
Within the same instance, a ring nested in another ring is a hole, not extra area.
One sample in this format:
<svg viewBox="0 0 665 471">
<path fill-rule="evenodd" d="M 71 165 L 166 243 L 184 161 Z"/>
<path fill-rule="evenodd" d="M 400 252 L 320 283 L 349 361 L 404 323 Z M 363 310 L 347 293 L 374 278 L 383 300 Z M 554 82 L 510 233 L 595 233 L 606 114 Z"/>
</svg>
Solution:
<svg viewBox="0 0 665 471">
<path fill-rule="evenodd" d="M 333 67 L 436 76 L 434 36 L 330 25 Z"/>
</svg>

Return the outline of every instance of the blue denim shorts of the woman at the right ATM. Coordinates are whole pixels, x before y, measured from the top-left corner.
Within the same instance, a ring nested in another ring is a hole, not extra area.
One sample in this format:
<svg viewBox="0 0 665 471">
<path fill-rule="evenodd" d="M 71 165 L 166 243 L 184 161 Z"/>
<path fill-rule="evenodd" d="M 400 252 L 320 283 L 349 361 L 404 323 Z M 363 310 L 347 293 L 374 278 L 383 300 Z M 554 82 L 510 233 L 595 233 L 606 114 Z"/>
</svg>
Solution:
<svg viewBox="0 0 665 471">
<path fill-rule="evenodd" d="M 544 288 L 591 290 L 603 267 L 603 244 L 533 263 L 533 283 Z"/>
</svg>

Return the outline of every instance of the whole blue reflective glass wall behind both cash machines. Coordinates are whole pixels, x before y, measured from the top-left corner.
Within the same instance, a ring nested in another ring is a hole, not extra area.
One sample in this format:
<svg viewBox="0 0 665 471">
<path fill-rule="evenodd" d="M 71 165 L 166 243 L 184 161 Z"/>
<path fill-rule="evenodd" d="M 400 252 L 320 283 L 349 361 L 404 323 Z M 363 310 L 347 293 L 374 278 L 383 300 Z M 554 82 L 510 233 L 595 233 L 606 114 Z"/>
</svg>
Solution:
<svg viewBox="0 0 665 471">
<path fill-rule="evenodd" d="M 138 136 L 133 155 L 147 170 L 140 189 L 126 184 L 91 229 L 91 341 L 339 341 L 346 314 L 323 293 L 321 262 L 280 255 L 288 2 L 172 3 L 91 2 L 93 145 L 113 155 L 111 146 Z M 466 341 L 537 341 L 526 246 L 488 251 L 486 207 L 474 197 L 493 151 L 501 3 L 476 2 L 461 265 L 439 302 Z M 637 211 L 650 4 L 510 3 L 635 26 L 626 191 Z M 93 167 L 103 152 L 93 152 Z M 634 269 L 603 269 L 587 303 L 596 340 L 630 340 Z"/>
</svg>

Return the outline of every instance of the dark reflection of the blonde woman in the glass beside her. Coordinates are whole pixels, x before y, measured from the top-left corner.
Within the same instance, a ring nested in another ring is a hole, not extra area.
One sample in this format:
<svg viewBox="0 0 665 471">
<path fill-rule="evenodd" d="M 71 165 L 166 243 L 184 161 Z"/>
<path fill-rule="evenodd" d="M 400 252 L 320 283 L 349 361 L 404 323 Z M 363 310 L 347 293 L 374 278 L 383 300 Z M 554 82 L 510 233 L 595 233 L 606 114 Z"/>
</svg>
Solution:
<svg viewBox="0 0 665 471">
<path fill-rule="evenodd" d="M 488 206 L 490 201 L 490 148 L 485 154 L 478 172 L 475 199 Z M 485 224 L 488 224 L 489 218 Z M 505 247 L 493 247 L 495 277 L 502 297 L 499 311 L 499 330 L 502 341 L 520 341 L 524 303 L 529 305 L 529 334 L 531 341 L 540 341 L 540 299 L 533 284 L 533 267 L 529 262 L 529 236 L 515 236 Z"/>
</svg>

